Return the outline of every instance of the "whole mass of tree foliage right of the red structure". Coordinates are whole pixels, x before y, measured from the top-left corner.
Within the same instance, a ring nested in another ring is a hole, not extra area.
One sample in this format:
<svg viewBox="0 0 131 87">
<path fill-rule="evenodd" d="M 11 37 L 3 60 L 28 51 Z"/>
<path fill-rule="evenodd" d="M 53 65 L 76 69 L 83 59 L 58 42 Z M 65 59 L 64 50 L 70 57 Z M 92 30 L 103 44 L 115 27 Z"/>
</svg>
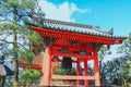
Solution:
<svg viewBox="0 0 131 87">
<path fill-rule="evenodd" d="M 122 53 L 120 58 L 116 58 L 111 61 L 108 61 L 106 63 L 102 64 L 100 67 L 100 75 L 104 78 L 104 80 L 107 80 L 107 83 L 117 85 L 117 86 L 123 86 L 123 87 L 130 87 L 131 86 L 131 34 L 129 35 L 128 39 L 124 40 L 124 42 L 119 47 L 118 49 L 119 53 Z M 102 52 L 103 54 L 104 52 Z"/>
</svg>

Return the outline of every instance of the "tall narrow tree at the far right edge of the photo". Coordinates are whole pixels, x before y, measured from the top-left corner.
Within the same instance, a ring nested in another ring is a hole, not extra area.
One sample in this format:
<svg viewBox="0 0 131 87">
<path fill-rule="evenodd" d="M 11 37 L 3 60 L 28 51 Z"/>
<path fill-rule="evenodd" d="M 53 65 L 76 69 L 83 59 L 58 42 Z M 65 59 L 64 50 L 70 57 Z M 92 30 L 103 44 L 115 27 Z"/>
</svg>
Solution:
<svg viewBox="0 0 131 87">
<path fill-rule="evenodd" d="M 119 53 L 123 53 L 122 58 L 128 58 L 124 64 L 121 63 L 121 74 L 122 74 L 122 82 L 126 87 L 131 86 L 131 34 L 121 47 L 118 49 Z"/>
</svg>

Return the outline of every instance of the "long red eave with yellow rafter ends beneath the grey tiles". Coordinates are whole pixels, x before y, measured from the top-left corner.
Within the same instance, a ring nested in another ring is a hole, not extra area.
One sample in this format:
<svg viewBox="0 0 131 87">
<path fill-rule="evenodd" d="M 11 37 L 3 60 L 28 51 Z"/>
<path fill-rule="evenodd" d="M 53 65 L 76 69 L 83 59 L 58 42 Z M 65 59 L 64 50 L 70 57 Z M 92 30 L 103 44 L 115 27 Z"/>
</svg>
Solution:
<svg viewBox="0 0 131 87">
<path fill-rule="evenodd" d="M 41 37 L 52 37 L 52 38 L 63 38 L 69 40 L 79 40 L 82 42 L 97 42 L 103 45 L 116 45 L 122 44 L 126 38 L 114 38 L 114 37 L 104 37 L 96 35 L 83 35 L 75 33 L 67 33 L 60 30 L 52 30 L 47 28 L 32 27 L 33 30 L 37 32 Z"/>
</svg>

